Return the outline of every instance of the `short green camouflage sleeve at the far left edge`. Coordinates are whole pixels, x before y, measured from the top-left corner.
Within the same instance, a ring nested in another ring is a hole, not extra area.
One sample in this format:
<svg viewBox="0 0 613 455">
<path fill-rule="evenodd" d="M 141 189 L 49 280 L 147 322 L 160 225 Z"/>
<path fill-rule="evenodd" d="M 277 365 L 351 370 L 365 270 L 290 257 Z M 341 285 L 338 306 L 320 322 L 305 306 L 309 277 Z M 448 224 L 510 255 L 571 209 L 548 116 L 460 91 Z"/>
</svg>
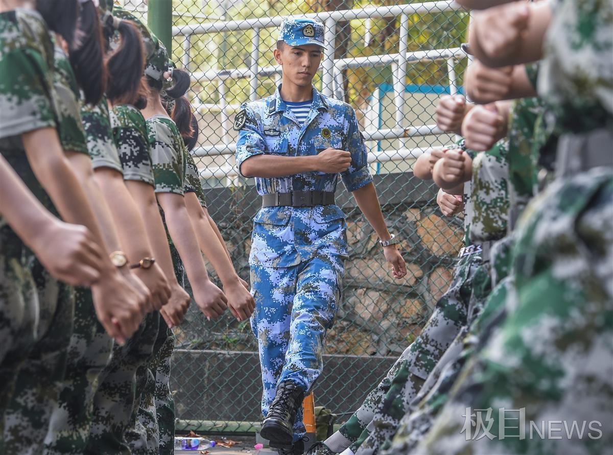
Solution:
<svg viewBox="0 0 613 455">
<path fill-rule="evenodd" d="M 18 17 L 17 10 L 0 18 L 0 137 L 10 137 L 39 128 L 55 128 L 53 88 L 47 75 L 52 74 L 42 40 L 49 40 L 44 24 L 28 15 Z M 40 29 L 26 37 L 20 27 L 25 21 L 31 29 Z M 42 21 L 42 18 L 40 19 Z"/>
</svg>

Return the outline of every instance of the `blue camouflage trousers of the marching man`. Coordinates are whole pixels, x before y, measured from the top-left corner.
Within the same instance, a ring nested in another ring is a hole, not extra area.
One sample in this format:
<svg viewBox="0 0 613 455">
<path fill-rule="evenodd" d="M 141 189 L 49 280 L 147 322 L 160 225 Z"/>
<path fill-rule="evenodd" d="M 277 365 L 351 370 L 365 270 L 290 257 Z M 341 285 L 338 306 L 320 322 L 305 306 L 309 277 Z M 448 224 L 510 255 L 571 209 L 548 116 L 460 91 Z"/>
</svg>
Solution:
<svg viewBox="0 0 613 455">
<path fill-rule="evenodd" d="M 277 384 L 291 381 L 307 394 L 321 374 L 324 337 L 340 302 L 345 257 L 315 254 L 292 267 L 251 266 L 256 301 L 251 328 L 259 345 L 264 416 L 275 398 Z M 300 407 L 294 440 L 304 434 Z"/>
</svg>

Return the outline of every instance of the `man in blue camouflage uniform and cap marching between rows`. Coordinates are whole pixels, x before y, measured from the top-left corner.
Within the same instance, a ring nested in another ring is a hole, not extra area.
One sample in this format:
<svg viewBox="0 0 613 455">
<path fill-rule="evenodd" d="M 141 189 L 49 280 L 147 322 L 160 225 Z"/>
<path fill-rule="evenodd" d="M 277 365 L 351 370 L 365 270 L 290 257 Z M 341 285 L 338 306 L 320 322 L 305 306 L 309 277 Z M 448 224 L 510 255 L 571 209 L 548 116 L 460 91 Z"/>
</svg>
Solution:
<svg viewBox="0 0 613 455">
<path fill-rule="evenodd" d="M 264 386 L 261 434 L 280 453 L 302 453 L 302 399 L 321 374 L 324 336 L 341 296 L 347 244 L 333 197 L 338 172 L 379 237 L 391 237 L 354 111 L 311 84 L 323 36 L 317 21 L 285 19 L 275 50 L 281 86 L 243 104 L 234 121 L 238 169 L 256 177 L 264 201 L 249 255 L 256 300 L 251 323 Z M 302 121 L 292 109 L 300 102 L 308 110 Z M 384 253 L 401 278 L 406 269 L 395 240 L 383 242 Z"/>
</svg>

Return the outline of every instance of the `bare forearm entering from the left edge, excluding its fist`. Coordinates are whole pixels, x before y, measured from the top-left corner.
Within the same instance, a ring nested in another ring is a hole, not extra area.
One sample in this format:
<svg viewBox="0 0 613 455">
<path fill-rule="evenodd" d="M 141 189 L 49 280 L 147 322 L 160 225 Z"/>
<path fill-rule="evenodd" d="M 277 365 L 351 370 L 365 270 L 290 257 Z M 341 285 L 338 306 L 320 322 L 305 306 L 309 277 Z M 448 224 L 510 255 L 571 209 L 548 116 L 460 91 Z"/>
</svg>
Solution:
<svg viewBox="0 0 613 455">
<path fill-rule="evenodd" d="M 29 247 L 53 215 L 40 204 L 15 170 L 0 155 L 0 215 Z"/>
</svg>

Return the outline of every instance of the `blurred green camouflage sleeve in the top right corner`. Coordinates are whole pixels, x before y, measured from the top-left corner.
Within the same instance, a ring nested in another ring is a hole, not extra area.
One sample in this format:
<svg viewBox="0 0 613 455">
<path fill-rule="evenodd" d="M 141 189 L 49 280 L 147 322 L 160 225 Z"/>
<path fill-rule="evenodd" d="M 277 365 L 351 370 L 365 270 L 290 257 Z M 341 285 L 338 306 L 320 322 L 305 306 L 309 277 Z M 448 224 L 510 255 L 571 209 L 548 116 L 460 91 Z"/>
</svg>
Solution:
<svg viewBox="0 0 613 455">
<path fill-rule="evenodd" d="M 543 45 L 538 93 L 573 132 L 613 123 L 613 2 L 562 0 Z"/>
</svg>

